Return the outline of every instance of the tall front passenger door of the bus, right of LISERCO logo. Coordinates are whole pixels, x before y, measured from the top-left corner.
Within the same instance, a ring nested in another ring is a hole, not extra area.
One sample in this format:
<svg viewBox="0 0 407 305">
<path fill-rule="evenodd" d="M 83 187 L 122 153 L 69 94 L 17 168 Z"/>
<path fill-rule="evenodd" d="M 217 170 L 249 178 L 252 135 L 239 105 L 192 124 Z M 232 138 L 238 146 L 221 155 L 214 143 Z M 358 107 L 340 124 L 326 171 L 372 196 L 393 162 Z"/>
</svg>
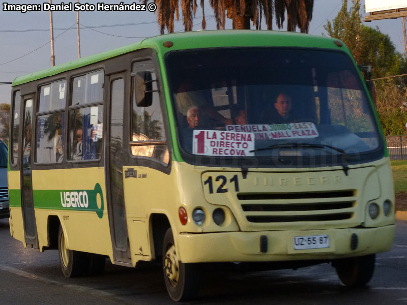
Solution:
<svg viewBox="0 0 407 305">
<path fill-rule="evenodd" d="M 109 214 L 113 259 L 124 264 L 131 263 L 126 209 L 123 190 L 123 117 L 125 101 L 125 75 L 109 77 L 108 145 L 106 156 L 106 192 Z"/>
</svg>

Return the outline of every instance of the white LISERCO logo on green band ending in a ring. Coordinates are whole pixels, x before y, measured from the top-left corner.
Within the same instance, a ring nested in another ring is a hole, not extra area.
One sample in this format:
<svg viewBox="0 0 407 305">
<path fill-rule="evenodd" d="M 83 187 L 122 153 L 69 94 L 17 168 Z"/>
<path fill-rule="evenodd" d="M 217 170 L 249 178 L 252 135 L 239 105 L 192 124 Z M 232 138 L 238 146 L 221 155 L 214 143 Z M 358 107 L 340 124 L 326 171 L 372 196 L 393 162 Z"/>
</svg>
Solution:
<svg viewBox="0 0 407 305">
<path fill-rule="evenodd" d="M 99 218 L 103 217 L 103 193 L 102 188 L 98 183 L 95 185 L 94 190 L 61 191 L 60 197 L 61 205 L 64 209 L 96 211 L 96 214 Z M 98 205 L 98 199 L 100 201 L 100 207 Z"/>
</svg>

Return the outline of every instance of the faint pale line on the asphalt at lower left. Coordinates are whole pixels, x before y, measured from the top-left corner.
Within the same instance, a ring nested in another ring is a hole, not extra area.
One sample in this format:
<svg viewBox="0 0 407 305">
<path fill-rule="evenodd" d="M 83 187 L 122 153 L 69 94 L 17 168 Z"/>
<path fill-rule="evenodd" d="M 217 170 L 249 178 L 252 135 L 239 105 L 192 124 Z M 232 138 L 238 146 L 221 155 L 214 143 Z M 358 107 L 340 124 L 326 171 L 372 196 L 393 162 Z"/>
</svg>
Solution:
<svg viewBox="0 0 407 305">
<path fill-rule="evenodd" d="M 64 286 L 66 288 L 71 288 L 80 292 L 85 292 L 85 293 L 89 293 L 92 295 L 95 295 L 97 297 L 101 297 L 101 298 L 107 298 L 110 300 L 114 300 L 114 301 L 119 301 L 121 303 L 125 303 L 125 304 L 134 304 L 133 302 L 130 303 L 118 296 L 116 296 L 115 294 L 103 291 L 103 290 L 98 290 L 98 289 L 94 289 L 94 288 L 89 288 L 89 287 L 85 287 L 85 286 L 79 286 L 79 285 L 74 285 L 74 284 L 65 284 L 63 282 L 59 282 L 59 281 L 54 281 L 54 280 L 50 280 L 44 277 L 40 277 L 37 275 L 34 275 L 33 273 L 30 272 L 26 272 L 23 270 L 19 270 L 10 266 L 5 266 L 5 265 L 1 265 L 0 264 L 0 270 L 2 271 L 8 271 L 11 273 L 14 273 L 15 275 L 18 276 L 22 276 L 28 279 L 33 279 L 33 280 L 37 280 L 46 284 L 51 284 L 51 285 L 55 285 L 55 286 Z"/>
</svg>

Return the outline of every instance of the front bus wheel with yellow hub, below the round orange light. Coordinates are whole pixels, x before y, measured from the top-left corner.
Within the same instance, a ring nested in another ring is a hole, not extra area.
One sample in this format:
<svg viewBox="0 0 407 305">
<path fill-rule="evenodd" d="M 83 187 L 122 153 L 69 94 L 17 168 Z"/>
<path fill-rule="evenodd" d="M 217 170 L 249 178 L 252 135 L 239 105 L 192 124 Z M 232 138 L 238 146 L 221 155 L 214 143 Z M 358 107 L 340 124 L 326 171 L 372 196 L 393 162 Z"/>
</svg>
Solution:
<svg viewBox="0 0 407 305">
<path fill-rule="evenodd" d="M 184 264 L 178 260 L 171 228 L 164 235 L 162 266 L 165 286 L 173 300 L 186 301 L 198 295 L 200 286 L 199 265 Z"/>
</svg>

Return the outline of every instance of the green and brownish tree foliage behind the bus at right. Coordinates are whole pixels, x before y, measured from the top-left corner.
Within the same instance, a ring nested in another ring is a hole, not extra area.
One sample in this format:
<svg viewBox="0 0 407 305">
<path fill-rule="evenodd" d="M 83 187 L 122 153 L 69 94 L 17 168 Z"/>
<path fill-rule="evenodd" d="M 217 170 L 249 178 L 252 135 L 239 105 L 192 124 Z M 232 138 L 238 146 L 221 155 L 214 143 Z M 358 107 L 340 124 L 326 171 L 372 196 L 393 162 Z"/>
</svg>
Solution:
<svg viewBox="0 0 407 305">
<path fill-rule="evenodd" d="M 352 0 L 347 10 L 347 0 L 342 0 L 338 15 L 324 28 L 332 38 L 339 39 L 351 50 L 358 64 L 372 66 L 372 79 L 406 73 L 405 58 L 394 47 L 388 35 L 379 27 L 362 24 L 360 0 Z M 407 121 L 407 88 L 405 79 L 387 78 L 374 81 L 376 86 L 376 111 L 386 135 L 405 133 Z"/>
</svg>

